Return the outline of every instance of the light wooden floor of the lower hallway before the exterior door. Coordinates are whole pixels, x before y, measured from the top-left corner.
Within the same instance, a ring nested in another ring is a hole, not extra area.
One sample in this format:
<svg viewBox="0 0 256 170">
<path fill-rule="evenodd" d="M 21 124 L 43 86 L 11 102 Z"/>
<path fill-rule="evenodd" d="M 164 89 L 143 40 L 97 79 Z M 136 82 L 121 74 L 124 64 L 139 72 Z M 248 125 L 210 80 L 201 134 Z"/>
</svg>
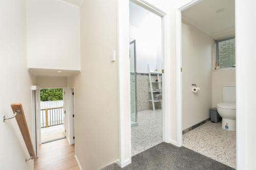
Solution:
<svg viewBox="0 0 256 170">
<path fill-rule="evenodd" d="M 79 170 L 74 155 L 75 147 L 70 145 L 66 138 L 41 144 L 38 149 L 38 158 L 34 160 L 34 169 Z"/>
</svg>

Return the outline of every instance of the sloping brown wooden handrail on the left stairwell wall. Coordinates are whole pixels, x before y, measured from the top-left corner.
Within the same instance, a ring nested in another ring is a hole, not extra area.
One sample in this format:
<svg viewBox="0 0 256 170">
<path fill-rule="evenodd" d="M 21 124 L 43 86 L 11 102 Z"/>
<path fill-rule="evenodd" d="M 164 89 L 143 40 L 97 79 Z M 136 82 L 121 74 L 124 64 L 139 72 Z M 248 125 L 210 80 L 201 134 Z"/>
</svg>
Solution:
<svg viewBox="0 0 256 170">
<path fill-rule="evenodd" d="M 16 114 L 15 118 L 19 127 L 20 132 L 22 133 L 23 139 L 25 141 L 26 147 L 28 149 L 29 155 L 31 159 L 35 159 L 35 151 L 33 148 L 32 140 L 29 134 L 28 125 L 26 122 L 25 114 L 23 111 L 22 104 L 20 103 L 13 103 L 11 104 L 13 114 L 16 113 L 16 111 L 19 111 L 18 114 Z"/>
</svg>

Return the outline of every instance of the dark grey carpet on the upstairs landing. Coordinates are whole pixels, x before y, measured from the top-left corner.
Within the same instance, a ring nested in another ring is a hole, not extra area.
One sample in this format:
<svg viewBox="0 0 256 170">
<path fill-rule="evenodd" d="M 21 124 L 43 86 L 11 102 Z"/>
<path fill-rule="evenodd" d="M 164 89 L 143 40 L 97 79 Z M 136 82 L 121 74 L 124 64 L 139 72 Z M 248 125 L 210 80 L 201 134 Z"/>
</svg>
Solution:
<svg viewBox="0 0 256 170">
<path fill-rule="evenodd" d="M 103 170 L 112 169 L 229 170 L 233 168 L 185 147 L 175 147 L 172 144 L 162 142 L 133 156 L 132 163 L 124 168 L 120 168 L 116 163 L 103 168 Z"/>
</svg>

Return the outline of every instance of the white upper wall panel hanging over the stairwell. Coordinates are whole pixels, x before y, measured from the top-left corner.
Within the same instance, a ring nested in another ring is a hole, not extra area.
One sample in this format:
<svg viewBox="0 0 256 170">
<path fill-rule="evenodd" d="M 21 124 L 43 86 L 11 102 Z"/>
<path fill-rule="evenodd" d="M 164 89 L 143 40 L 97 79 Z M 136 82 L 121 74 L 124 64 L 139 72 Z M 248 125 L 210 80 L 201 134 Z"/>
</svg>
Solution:
<svg viewBox="0 0 256 170">
<path fill-rule="evenodd" d="M 27 1 L 29 68 L 80 70 L 79 12 L 61 1 Z"/>
</svg>

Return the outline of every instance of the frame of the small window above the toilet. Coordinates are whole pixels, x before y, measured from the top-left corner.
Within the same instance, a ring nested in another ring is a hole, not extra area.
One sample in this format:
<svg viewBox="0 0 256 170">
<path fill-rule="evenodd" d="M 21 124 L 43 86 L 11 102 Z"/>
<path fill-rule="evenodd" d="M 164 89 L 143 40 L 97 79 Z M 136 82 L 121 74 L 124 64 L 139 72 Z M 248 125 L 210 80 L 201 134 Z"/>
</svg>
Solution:
<svg viewBox="0 0 256 170">
<path fill-rule="evenodd" d="M 234 36 L 234 35 L 214 39 L 214 49 L 215 49 L 215 51 L 214 51 L 215 52 L 214 53 L 214 60 L 215 60 L 214 70 L 225 70 L 225 69 L 235 69 L 236 68 L 236 65 L 229 66 L 229 67 L 220 67 L 219 66 L 219 57 L 218 57 L 218 42 L 233 39 L 233 38 L 236 41 L 236 36 Z M 235 58 L 236 58 L 236 54 L 235 54 Z"/>
</svg>

